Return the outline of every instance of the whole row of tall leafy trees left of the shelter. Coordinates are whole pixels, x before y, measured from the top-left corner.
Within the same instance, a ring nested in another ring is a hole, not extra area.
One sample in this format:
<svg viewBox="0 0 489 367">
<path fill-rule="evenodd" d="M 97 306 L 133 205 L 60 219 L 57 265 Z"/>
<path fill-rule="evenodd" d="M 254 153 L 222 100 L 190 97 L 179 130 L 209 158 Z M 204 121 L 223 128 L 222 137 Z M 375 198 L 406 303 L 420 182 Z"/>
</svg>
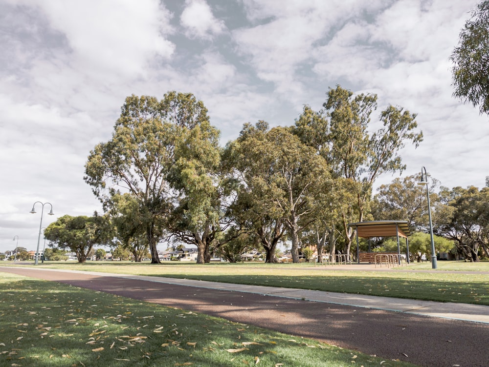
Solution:
<svg viewBox="0 0 489 367">
<path fill-rule="evenodd" d="M 370 218 L 375 180 L 402 172 L 400 149 L 417 146 L 422 133 L 401 107 L 388 106 L 371 123 L 374 94 L 337 86 L 323 107 L 306 105 L 292 126 L 246 123 L 221 147 L 192 94 L 128 97 L 111 140 L 96 145 L 85 166 L 106 214 L 83 221 L 116 229 L 93 243 L 113 245 L 116 238 L 127 249 L 149 247 L 152 263 L 159 263 L 162 241 L 196 245 L 198 263 L 216 252 L 234 261 L 249 246 L 262 246 L 266 261 L 275 262 L 286 239 L 294 262 L 309 244 L 349 253 L 348 223 Z M 46 238 L 61 244 L 54 227 Z M 86 252 L 77 256 L 84 261 Z"/>
</svg>

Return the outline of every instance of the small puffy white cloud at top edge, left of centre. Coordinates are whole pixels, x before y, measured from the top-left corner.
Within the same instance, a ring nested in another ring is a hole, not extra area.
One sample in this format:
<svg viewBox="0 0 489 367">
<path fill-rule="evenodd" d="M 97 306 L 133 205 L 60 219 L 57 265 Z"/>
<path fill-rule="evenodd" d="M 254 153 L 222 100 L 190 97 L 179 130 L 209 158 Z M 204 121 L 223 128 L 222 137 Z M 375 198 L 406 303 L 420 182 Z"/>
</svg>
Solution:
<svg viewBox="0 0 489 367">
<path fill-rule="evenodd" d="M 224 21 L 214 17 L 205 0 L 185 0 L 180 24 L 189 38 L 211 39 L 225 30 Z"/>
</svg>

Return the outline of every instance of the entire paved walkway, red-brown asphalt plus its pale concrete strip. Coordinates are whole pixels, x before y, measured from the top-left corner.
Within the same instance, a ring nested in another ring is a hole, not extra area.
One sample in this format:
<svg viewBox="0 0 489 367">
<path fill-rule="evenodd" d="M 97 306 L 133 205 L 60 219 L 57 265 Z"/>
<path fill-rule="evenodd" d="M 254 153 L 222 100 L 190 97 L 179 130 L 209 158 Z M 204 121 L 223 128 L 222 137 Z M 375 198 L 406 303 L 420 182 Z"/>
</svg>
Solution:
<svg viewBox="0 0 489 367">
<path fill-rule="evenodd" d="M 196 310 L 419 366 L 488 366 L 488 306 L 33 267 L 0 271 Z"/>
</svg>

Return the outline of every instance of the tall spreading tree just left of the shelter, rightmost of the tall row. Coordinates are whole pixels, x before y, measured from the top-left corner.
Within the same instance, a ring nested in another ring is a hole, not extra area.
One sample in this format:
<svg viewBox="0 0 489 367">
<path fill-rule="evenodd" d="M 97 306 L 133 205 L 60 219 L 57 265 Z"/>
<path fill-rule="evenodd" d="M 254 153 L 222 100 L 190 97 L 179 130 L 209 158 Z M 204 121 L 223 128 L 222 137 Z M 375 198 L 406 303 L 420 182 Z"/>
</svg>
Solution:
<svg viewBox="0 0 489 367">
<path fill-rule="evenodd" d="M 338 85 L 330 89 L 323 107 L 325 110 L 314 112 L 305 106 L 294 133 L 329 164 L 334 179 L 330 202 L 334 204 L 325 201 L 331 211 L 320 220 L 332 238 L 341 227 L 344 252 L 349 253 L 354 233 L 347 224 L 368 219 L 375 180 L 383 173 L 402 172 L 405 165 L 400 150 L 406 143 L 418 146 L 422 133 L 416 131 L 415 114 L 388 106 L 380 113 L 383 127 L 369 134 L 370 116 L 377 109 L 375 94 L 354 96 Z M 321 238 L 329 236 L 318 234 Z"/>
</svg>

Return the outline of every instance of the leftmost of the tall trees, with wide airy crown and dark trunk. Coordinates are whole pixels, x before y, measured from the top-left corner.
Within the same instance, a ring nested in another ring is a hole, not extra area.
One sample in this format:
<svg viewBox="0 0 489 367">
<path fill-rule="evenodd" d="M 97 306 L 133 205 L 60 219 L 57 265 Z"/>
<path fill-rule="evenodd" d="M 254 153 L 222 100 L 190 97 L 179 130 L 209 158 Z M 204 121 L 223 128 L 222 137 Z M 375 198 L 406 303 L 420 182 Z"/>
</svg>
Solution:
<svg viewBox="0 0 489 367">
<path fill-rule="evenodd" d="M 183 187 L 175 178 L 181 172 L 176 169 L 177 161 L 178 167 L 190 162 L 190 168 L 185 168 L 192 169 L 199 167 L 199 159 L 207 159 L 207 152 L 194 150 L 194 144 L 193 159 L 180 160 L 183 147 L 179 143 L 182 137 L 187 138 L 185 143 L 193 143 L 195 136 L 215 141 L 219 134 L 208 120 L 207 109 L 191 93 L 171 91 L 161 101 L 132 95 L 121 108 L 111 140 L 90 152 L 85 181 L 105 208 L 113 205 L 115 195 L 123 193 L 138 201 L 152 263 L 160 262 L 156 245 L 164 236 L 163 221 L 175 194 L 172 187 Z"/>
</svg>

